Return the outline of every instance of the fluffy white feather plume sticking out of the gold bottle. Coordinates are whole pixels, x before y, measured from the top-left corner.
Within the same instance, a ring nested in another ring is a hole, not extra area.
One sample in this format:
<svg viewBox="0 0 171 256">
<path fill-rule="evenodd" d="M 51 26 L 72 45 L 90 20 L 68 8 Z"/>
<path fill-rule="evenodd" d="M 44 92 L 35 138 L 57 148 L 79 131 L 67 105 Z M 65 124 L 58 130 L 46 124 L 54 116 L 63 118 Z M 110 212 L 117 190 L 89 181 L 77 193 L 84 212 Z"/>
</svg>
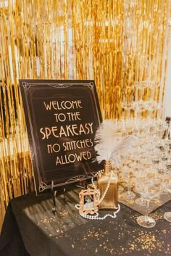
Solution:
<svg viewBox="0 0 171 256">
<path fill-rule="evenodd" d="M 97 152 L 96 160 L 99 163 L 103 160 L 115 160 L 117 163 L 118 154 L 135 144 L 135 136 L 118 139 L 114 123 L 114 120 L 104 120 L 96 131 L 94 148 Z"/>
</svg>

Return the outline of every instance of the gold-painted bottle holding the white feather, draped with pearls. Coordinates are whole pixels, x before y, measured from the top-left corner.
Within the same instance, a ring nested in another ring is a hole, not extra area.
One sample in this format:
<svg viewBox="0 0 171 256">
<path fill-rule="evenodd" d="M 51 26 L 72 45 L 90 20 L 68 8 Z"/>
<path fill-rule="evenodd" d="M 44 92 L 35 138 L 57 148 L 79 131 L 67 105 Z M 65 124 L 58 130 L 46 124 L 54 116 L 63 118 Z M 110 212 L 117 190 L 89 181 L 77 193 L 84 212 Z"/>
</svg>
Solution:
<svg viewBox="0 0 171 256">
<path fill-rule="evenodd" d="M 118 207 L 118 182 L 117 176 L 114 176 L 114 174 L 111 176 L 110 161 L 105 162 L 104 173 L 99 176 L 97 183 L 101 197 L 103 197 L 109 183 L 109 189 L 103 201 L 99 204 L 99 210 L 116 210 Z"/>
</svg>

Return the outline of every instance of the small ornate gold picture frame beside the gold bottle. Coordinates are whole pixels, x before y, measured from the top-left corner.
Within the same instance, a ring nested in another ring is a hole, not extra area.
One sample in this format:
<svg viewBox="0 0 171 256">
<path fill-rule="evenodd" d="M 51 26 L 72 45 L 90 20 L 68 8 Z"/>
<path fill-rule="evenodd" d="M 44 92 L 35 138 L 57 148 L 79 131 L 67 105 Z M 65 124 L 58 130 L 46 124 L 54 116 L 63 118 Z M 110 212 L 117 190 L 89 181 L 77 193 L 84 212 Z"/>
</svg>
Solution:
<svg viewBox="0 0 171 256">
<path fill-rule="evenodd" d="M 94 214 L 98 212 L 98 193 L 94 189 L 80 191 L 80 213 Z"/>
</svg>

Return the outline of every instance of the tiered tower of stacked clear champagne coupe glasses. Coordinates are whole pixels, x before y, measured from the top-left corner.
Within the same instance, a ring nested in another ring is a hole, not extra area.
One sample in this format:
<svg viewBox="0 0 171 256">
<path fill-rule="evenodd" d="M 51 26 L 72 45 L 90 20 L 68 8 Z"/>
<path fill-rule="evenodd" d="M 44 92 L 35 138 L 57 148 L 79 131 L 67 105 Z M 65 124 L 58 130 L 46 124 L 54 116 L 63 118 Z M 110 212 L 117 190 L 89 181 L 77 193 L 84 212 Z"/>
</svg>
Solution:
<svg viewBox="0 0 171 256">
<path fill-rule="evenodd" d="M 146 66 L 146 79 L 133 83 L 135 100 L 122 102 L 124 118 L 116 122 L 123 137 L 134 136 L 136 145 L 120 153 L 120 202 L 144 215 L 137 222 L 153 227 L 156 221 L 148 212 L 171 198 L 170 119 L 163 117 L 163 107 L 155 98 L 159 84 L 151 78 L 151 63 Z M 171 221 L 171 212 L 164 218 Z"/>
</svg>

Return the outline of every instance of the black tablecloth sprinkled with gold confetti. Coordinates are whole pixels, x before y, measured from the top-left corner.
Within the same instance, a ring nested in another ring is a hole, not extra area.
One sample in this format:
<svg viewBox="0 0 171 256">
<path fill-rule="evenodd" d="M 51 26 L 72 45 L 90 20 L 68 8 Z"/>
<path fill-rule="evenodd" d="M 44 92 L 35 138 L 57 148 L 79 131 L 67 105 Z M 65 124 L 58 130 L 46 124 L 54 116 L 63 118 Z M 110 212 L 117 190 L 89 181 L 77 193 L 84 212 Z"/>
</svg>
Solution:
<svg viewBox="0 0 171 256">
<path fill-rule="evenodd" d="M 171 255 L 171 223 L 163 218 L 171 211 L 171 202 L 151 214 L 157 220 L 154 228 L 142 228 L 136 223 L 139 214 L 125 205 L 115 219 L 81 218 L 75 209 L 78 192 L 57 195 L 57 215 L 51 213 L 51 194 L 12 199 L 1 231 L 0 255 Z"/>
</svg>

